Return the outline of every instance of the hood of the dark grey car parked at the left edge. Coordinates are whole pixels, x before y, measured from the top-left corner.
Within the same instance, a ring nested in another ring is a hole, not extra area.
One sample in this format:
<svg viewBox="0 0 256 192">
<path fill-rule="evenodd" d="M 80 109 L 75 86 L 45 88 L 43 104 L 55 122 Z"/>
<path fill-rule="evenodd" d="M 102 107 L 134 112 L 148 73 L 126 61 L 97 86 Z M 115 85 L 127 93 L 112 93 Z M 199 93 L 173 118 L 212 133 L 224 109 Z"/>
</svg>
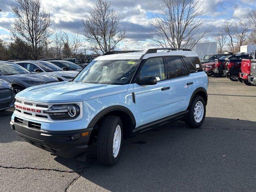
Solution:
<svg viewBox="0 0 256 192">
<path fill-rule="evenodd" d="M 54 76 L 50 76 L 48 74 L 18 74 L 18 75 L 10 75 L 5 76 L 8 79 L 19 79 L 19 80 L 31 80 L 31 81 L 42 81 L 42 82 L 51 82 L 51 81 L 58 81 Z"/>
</svg>

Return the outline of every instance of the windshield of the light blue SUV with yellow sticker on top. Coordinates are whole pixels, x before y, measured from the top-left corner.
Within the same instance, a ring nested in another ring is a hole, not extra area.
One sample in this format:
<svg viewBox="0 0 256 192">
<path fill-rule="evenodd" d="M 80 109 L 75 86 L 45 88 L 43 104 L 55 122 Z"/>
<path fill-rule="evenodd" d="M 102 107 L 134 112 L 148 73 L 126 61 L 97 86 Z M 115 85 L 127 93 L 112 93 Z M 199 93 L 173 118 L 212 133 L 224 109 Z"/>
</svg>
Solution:
<svg viewBox="0 0 256 192">
<path fill-rule="evenodd" d="M 128 84 L 140 62 L 141 60 L 94 60 L 74 78 L 73 82 Z"/>
</svg>

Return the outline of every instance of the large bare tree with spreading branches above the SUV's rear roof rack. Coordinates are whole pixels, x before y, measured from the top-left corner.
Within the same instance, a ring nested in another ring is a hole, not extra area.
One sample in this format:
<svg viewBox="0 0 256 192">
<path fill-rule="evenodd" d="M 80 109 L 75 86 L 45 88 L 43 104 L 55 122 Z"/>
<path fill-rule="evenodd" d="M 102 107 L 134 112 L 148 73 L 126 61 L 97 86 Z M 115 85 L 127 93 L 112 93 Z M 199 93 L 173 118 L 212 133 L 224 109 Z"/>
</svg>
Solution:
<svg viewBox="0 0 256 192">
<path fill-rule="evenodd" d="M 208 33 L 200 0 L 162 0 L 150 20 L 149 38 L 163 48 L 193 48 Z"/>
</svg>

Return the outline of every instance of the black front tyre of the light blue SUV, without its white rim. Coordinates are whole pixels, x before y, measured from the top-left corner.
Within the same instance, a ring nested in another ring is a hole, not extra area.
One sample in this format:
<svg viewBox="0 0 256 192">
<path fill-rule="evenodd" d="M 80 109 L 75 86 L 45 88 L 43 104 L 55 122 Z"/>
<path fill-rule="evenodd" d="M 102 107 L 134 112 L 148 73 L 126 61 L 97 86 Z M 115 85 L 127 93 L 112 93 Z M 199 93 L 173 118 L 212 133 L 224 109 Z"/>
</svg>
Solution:
<svg viewBox="0 0 256 192">
<path fill-rule="evenodd" d="M 121 144 L 116 158 L 113 155 L 113 138 L 117 126 L 121 128 Z M 123 126 L 118 116 L 107 116 L 100 124 L 97 138 L 97 157 L 98 162 L 105 166 L 113 166 L 120 158 L 122 147 Z"/>
</svg>

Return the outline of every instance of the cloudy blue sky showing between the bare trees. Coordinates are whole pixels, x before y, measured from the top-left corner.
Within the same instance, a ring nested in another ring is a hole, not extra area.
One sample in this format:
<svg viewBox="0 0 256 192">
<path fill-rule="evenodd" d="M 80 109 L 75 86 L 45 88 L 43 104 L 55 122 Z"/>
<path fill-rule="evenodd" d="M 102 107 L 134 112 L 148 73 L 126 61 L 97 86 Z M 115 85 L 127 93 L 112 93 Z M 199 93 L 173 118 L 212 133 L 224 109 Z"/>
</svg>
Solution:
<svg viewBox="0 0 256 192">
<path fill-rule="evenodd" d="M 202 0 L 203 1 L 203 0 Z M 8 40 L 10 25 L 14 20 L 10 10 L 13 0 L 0 0 L 0 38 Z M 95 0 L 42 0 L 42 4 L 51 14 L 52 27 L 57 29 L 78 31 L 82 36 L 81 20 L 88 10 L 94 6 Z M 112 0 L 112 7 L 120 14 L 122 26 L 126 28 L 128 37 L 120 44 L 134 49 L 146 49 L 154 46 L 147 39 L 148 20 L 161 0 Z M 220 27 L 223 22 L 236 22 L 246 19 L 248 12 L 256 9 L 256 0 L 204 0 L 202 8 L 208 10 L 206 16 L 208 27 Z M 216 30 L 215 30 L 216 31 Z M 214 36 L 214 30 L 210 34 Z"/>
</svg>

